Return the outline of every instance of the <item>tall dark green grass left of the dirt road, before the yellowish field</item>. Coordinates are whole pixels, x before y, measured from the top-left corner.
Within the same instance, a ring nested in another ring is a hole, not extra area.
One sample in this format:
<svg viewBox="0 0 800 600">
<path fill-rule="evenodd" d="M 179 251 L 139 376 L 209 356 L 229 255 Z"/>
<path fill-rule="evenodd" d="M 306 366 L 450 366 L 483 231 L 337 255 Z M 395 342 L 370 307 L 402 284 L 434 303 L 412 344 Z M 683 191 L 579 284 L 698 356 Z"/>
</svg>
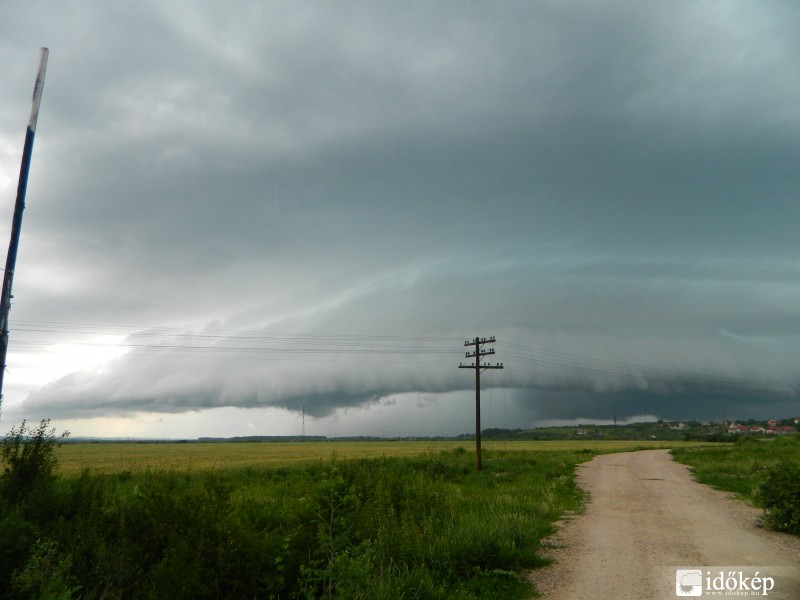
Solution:
<svg viewBox="0 0 800 600">
<path fill-rule="evenodd" d="M 593 450 L 62 476 L 3 506 L 4 597 L 516 599 Z"/>
</svg>

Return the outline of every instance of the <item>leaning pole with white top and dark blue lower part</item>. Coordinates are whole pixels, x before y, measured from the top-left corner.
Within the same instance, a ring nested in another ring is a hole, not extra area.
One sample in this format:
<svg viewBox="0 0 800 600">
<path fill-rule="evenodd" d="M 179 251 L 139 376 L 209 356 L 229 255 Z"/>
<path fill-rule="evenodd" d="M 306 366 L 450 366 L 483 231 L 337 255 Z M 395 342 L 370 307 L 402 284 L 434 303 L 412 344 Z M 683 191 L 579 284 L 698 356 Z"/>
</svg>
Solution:
<svg viewBox="0 0 800 600">
<path fill-rule="evenodd" d="M 17 249 L 19 248 L 19 234 L 22 227 L 22 211 L 25 210 L 25 192 L 28 189 L 33 138 L 36 134 L 36 122 L 39 119 L 39 104 L 42 101 L 44 75 L 47 71 L 47 57 L 49 54 L 50 51 L 47 48 L 42 48 L 39 52 L 39 71 L 36 74 L 36 84 L 33 87 L 31 115 L 28 118 L 28 129 L 25 132 L 25 146 L 22 150 L 22 165 L 19 169 L 19 183 L 17 185 L 17 201 L 14 204 L 14 217 L 11 221 L 11 242 L 8 244 L 6 270 L 3 273 L 3 291 L 2 295 L 0 295 L 0 415 L 2 415 L 3 408 L 3 377 L 6 372 L 6 354 L 8 353 L 8 313 L 11 310 L 11 298 L 13 298 L 11 284 L 14 282 L 14 268 L 17 264 Z"/>
</svg>

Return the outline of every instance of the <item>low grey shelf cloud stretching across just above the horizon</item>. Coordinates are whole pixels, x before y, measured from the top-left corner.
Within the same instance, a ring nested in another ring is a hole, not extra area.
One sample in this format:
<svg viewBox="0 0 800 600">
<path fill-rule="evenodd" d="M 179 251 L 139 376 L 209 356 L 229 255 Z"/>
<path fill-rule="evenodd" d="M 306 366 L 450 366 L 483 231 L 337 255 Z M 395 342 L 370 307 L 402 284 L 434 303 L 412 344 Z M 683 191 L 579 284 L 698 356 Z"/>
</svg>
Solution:
<svg viewBox="0 0 800 600">
<path fill-rule="evenodd" d="M 752 280 L 715 286 L 668 276 L 669 265 L 653 265 L 655 279 L 641 265 L 625 273 L 598 264 L 588 278 L 585 265 L 516 265 L 485 275 L 490 291 L 476 305 L 466 262 L 393 273 L 282 323 L 294 332 L 306 325 L 305 333 L 137 333 L 128 355 L 57 380 L 23 406 L 86 416 L 304 407 L 324 417 L 397 393 L 467 390 L 472 379 L 456 367 L 468 360 L 455 337 L 467 322 L 472 331 L 503 323 L 495 344 L 503 386 L 517 390 L 519 410 L 541 418 L 600 418 L 610 408 L 620 418 L 680 416 L 724 403 L 735 413 L 793 401 L 800 345 L 764 327 L 753 309 L 768 306 L 758 306 Z M 598 276 L 603 270 L 611 274 Z M 532 285 L 548 292 L 532 294 Z M 723 296 L 728 302 L 715 304 Z"/>
</svg>

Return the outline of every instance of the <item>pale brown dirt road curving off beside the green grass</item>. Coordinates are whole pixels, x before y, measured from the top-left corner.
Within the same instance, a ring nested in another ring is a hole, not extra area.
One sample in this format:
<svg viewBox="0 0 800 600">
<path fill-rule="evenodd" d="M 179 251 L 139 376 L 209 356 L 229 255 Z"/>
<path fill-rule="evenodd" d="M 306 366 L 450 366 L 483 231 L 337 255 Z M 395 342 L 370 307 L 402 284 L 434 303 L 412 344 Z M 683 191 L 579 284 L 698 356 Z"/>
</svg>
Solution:
<svg viewBox="0 0 800 600">
<path fill-rule="evenodd" d="M 695 482 L 667 450 L 597 456 L 578 482 L 585 514 L 548 541 L 556 563 L 531 574 L 547 600 L 674 599 L 677 569 L 713 587 L 723 566 L 725 577 L 734 566 L 773 577 L 768 598 L 800 599 L 800 539 L 759 528 L 761 511 Z"/>
</svg>

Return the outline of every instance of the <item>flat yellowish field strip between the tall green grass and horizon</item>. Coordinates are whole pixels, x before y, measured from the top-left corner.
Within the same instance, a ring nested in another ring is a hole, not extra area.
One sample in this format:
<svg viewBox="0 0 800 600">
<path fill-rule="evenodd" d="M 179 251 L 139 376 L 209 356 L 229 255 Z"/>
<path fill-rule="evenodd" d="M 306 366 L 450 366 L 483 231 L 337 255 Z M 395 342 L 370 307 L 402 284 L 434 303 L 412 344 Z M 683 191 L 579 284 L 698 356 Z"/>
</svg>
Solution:
<svg viewBox="0 0 800 600">
<path fill-rule="evenodd" d="M 685 442 L 656 441 L 514 441 L 485 442 L 484 451 L 525 450 L 536 452 L 623 452 L 632 449 L 674 448 Z M 696 446 L 696 443 L 690 445 Z M 219 443 L 67 443 L 57 451 L 64 475 L 83 469 L 98 473 L 137 472 L 147 469 L 204 471 L 236 467 L 285 467 L 327 460 L 418 456 L 443 450 L 475 450 L 468 441 L 331 441 L 331 442 L 219 442 Z"/>
</svg>

